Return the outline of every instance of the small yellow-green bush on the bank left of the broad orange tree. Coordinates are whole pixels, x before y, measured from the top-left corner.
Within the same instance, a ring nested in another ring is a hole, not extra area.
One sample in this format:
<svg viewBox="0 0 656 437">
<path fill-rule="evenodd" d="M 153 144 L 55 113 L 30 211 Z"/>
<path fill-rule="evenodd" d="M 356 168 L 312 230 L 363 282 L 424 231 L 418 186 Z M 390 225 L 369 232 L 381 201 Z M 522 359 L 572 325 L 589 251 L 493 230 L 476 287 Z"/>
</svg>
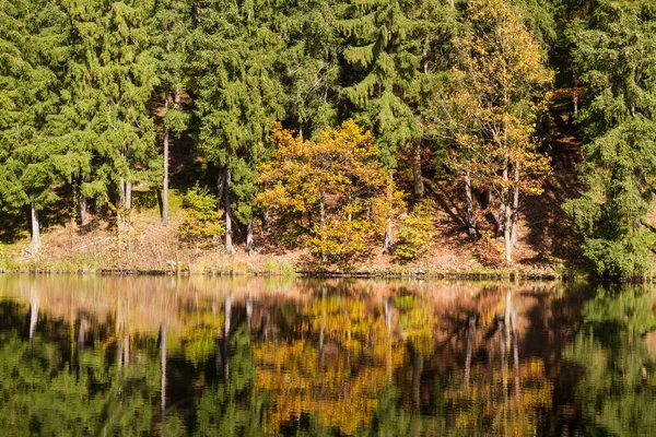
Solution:
<svg viewBox="0 0 656 437">
<path fill-rule="evenodd" d="M 216 199 L 207 188 L 196 186 L 183 200 L 185 221 L 178 233 L 183 240 L 197 247 L 215 243 L 225 232 L 224 223 L 216 211 Z"/>
</svg>

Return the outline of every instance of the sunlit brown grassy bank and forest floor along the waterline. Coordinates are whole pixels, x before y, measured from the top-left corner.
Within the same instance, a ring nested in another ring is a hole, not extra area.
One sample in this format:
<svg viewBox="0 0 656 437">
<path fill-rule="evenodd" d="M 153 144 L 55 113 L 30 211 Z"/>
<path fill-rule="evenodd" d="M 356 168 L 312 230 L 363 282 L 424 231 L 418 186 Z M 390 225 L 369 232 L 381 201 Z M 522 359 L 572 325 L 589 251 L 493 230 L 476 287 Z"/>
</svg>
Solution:
<svg viewBox="0 0 656 437">
<path fill-rule="evenodd" d="M 509 275 L 561 277 L 581 270 L 573 225 L 562 202 L 575 193 L 566 180 L 552 176 L 541 196 L 526 198 L 518 226 L 514 262 L 503 261 L 503 239 L 467 235 L 464 205 L 456 201 L 461 187 L 449 181 L 426 180 L 426 196 L 436 205 L 437 237 L 422 258 L 405 262 L 372 248 L 373 256 L 342 264 L 323 264 L 303 247 L 284 246 L 274 234 L 256 225 L 256 250 L 247 255 L 237 235 L 236 253 L 227 256 L 221 241 L 197 249 L 178 238 L 183 222 L 180 196 L 172 198 L 171 223 L 162 226 L 156 205 L 137 206 L 130 229 L 119 241 L 116 226 L 93 217 L 85 226 L 50 217 L 42 235 L 37 257 L 26 257 L 28 234 L 0 245 L 0 271 L 79 273 L 184 273 L 184 274 L 318 274 L 353 275 Z M 138 192 L 137 192 L 138 193 Z M 483 215 L 483 214 L 481 214 Z M 481 228 L 493 228 L 493 214 L 479 218 Z M 26 228 L 26 226 L 25 226 Z"/>
</svg>

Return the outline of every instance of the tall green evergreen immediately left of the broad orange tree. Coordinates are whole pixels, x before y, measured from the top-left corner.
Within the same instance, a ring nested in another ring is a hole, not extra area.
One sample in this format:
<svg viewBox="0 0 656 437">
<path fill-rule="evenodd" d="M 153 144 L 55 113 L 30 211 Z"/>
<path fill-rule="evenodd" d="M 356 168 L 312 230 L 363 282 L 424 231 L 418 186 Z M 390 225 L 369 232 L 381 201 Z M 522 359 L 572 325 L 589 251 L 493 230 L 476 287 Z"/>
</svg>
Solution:
<svg viewBox="0 0 656 437">
<path fill-rule="evenodd" d="M 271 29 L 271 7 L 266 1 L 222 0 L 198 11 L 198 140 L 220 169 L 227 253 L 234 252 L 233 220 L 248 227 L 251 239 L 256 166 L 271 122 L 284 114 L 284 93 L 274 68 L 283 46 Z"/>
</svg>

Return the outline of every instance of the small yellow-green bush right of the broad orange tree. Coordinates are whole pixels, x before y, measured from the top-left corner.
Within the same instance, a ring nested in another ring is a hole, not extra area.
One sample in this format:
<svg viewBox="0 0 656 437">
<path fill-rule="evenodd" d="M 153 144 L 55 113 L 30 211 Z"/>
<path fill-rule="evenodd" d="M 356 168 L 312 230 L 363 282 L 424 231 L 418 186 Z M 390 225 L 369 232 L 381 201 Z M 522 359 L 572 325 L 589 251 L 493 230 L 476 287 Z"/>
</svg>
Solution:
<svg viewBox="0 0 656 437">
<path fill-rule="evenodd" d="M 432 200 L 422 200 L 399 225 L 394 253 L 405 260 L 421 259 L 434 244 L 437 231 L 434 225 L 435 204 Z"/>
</svg>

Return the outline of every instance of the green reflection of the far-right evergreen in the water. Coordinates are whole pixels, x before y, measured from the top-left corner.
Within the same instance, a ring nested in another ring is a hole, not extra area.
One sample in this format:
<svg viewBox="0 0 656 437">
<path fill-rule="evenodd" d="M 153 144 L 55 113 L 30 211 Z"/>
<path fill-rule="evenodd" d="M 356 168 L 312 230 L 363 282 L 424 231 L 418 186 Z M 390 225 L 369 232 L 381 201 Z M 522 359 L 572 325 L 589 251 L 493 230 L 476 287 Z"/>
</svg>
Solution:
<svg viewBox="0 0 656 437">
<path fill-rule="evenodd" d="M 641 336 L 656 328 L 646 287 L 599 287 L 566 347 L 585 371 L 576 394 L 588 435 L 656 435 L 656 365 Z"/>
</svg>

